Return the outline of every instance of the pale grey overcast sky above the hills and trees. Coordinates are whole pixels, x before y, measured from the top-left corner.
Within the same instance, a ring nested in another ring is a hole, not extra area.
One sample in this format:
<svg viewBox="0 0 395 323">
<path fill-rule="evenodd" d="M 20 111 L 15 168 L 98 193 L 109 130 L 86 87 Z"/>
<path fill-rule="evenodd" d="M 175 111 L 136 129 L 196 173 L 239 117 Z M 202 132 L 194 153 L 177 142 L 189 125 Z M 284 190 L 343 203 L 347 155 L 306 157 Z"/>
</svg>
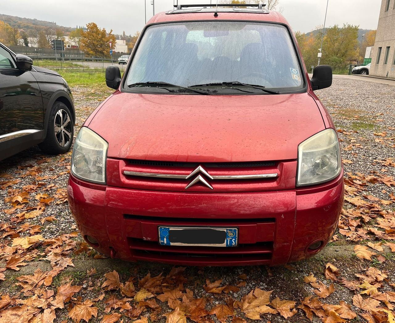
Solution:
<svg viewBox="0 0 395 323">
<path fill-rule="evenodd" d="M 2 6 L 2 12 L 26 18 L 54 21 L 58 25 L 75 27 L 95 22 L 115 34 L 134 34 L 145 24 L 144 1 L 147 20 L 152 17 L 151 0 L 18 0 L 17 5 Z M 155 12 L 172 9 L 173 1 L 155 0 Z M 179 0 L 183 3 L 203 4 L 210 0 Z M 212 0 L 213 3 L 216 0 Z M 326 0 L 280 0 L 283 15 L 293 30 L 309 32 L 324 24 Z M 110 7 L 111 4 L 111 7 Z M 327 26 L 350 23 L 363 29 L 376 29 L 381 0 L 329 0 Z"/>
</svg>

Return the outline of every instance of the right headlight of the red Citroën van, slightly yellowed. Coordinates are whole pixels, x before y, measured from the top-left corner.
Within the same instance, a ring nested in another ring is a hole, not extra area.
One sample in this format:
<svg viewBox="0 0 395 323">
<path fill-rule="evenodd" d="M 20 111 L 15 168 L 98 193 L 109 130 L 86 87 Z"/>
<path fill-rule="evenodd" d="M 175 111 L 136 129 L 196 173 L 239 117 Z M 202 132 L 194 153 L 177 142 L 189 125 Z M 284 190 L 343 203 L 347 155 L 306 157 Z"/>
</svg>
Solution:
<svg viewBox="0 0 395 323">
<path fill-rule="evenodd" d="M 335 130 L 323 130 L 299 144 L 297 163 L 297 186 L 327 182 L 337 177 L 342 160 Z"/>
</svg>

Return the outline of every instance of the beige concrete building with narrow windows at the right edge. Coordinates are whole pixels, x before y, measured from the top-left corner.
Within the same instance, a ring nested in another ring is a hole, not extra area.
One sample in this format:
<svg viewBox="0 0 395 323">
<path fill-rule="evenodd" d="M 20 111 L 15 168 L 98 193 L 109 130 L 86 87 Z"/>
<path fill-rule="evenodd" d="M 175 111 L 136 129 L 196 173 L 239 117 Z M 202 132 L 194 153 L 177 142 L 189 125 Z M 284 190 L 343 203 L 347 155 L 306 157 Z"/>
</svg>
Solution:
<svg viewBox="0 0 395 323">
<path fill-rule="evenodd" d="M 369 74 L 395 78 L 395 0 L 382 0 Z"/>
</svg>

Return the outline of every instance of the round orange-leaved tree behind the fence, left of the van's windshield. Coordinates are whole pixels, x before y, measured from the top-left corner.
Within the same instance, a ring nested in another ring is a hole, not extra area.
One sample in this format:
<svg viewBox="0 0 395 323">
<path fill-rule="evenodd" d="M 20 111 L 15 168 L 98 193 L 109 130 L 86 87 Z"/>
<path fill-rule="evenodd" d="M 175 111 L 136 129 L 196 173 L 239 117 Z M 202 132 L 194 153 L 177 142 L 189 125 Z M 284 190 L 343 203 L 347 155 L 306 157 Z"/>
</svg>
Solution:
<svg viewBox="0 0 395 323">
<path fill-rule="evenodd" d="M 87 55 L 109 57 L 109 42 L 115 44 L 113 30 L 107 34 L 105 28 L 100 29 L 96 23 L 88 23 L 87 31 L 83 32 L 81 38 L 81 49 Z"/>
</svg>

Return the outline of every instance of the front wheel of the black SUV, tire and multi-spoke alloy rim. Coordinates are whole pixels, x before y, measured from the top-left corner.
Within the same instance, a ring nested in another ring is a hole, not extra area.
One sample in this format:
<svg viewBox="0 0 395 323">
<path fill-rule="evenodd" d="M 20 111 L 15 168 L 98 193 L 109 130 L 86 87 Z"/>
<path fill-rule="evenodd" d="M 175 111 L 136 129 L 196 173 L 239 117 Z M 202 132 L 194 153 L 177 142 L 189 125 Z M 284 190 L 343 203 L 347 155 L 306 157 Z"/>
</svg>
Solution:
<svg viewBox="0 0 395 323">
<path fill-rule="evenodd" d="M 74 122 L 69 108 L 55 101 L 49 114 L 47 136 L 38 146 L 47 154 L 64 154 L 70 150 L 73 136 Z"/>
</svg>

